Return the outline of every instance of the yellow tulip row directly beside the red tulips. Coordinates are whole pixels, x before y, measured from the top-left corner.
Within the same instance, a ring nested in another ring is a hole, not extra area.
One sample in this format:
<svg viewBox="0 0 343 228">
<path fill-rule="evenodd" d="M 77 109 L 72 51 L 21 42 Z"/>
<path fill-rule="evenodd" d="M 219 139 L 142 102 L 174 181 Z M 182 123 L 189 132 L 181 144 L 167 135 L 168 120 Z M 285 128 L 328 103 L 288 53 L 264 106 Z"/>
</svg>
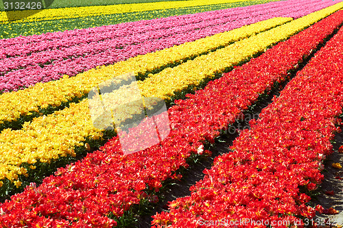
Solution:
<svg viewBox="0 0 343 228">
<path fill-rule="evenodd" d="M 167 68 L 161 73 L 152 75 L 151 79 L 139 82 L 139 88 L 143 90 L 143 96 L 168 99 L 184 84 L 196 85 L 206 77 L 213 77 L 213 73 L 250 58 L 255 53 L 285 40 L 340 8 L 343 8 L 343 3 L 235 42 L 208 55 L 201 55 L 175 68 Z M 160 80 L 162 75 L 163 80 Z M 152 83 L 154 78 L 155 81 L 159 80 L 157 84 Z M 165 83 L 165 81 L 169 82 Z M 145 91 L 145 89 L 149 90 Z M 5 129 L 0 134 L 0 179 L 8 178 L 14 181 L 18 175 L 25 175 L 27 170 L 18 167 L 22 162 L 29 164 L 34 164 L 37 160 L 49 162 L 52 158 L 73 155 L 75 146 L 82 146 L 82 141 L 87 136 L 95 139 L 102 136 L 102 130 L 93 127 L 87 99 L 54 114 L 34 118 L 32 123 L 25 123 L 21 130 Z"/>
</svg>

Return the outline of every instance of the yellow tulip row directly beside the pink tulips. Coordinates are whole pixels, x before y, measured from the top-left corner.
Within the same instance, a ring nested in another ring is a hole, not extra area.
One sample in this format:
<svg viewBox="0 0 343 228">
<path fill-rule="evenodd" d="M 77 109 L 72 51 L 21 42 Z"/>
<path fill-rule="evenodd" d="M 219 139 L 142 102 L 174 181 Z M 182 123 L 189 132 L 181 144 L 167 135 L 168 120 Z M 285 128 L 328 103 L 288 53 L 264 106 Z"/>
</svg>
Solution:
<svg viewBox="0 0 343 228">
<path fill-rule="evenodd" d="M 138 55 L 110 66 L 93 68 L 75 75 L 75 77 L 65 75 L 57 81 L 38 83 L 32 88 L 3 93 L 0 95 L 0 124 L 4 121 L 16 121 L 21 115 L 27 115 L 30 112 L 38 112 L 38 107 L 59 106 L 62 101 L 82 97 L 97 84 L 107 79 L 113 79 L 113 77 L 119 77 L 117 75 L 129 72 L 133 72 L 135 75 L 144 75 L 156 68 L 226 46 L 291 20 L 292 18 L 272 18 L 169 49 Z"/>
</svg>

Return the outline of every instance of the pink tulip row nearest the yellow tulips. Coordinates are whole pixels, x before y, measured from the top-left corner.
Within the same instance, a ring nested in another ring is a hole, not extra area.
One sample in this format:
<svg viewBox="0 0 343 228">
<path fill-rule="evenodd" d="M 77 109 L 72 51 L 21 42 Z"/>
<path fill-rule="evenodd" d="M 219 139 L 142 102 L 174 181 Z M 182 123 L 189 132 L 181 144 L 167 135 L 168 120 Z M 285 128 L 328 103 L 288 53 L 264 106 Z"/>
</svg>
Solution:
<svg viewBox="0 0 343 228">
<path fill-rule="evenodd" d="M 289 13 L 294 14 L 294 12 L 301 14 L 301 11 L 307 7 L 309 7 L 309 5 L 303 5 L 300 8 L 283 8 L 283 13 L 285 15 Z M 25 69 L 12 71 L 6 73 L 3 77 L 0 77 L 0 90 L 3 92 L 10 92 L 12 90 L 19 90 L 20 88 L 33 86 L 40 81 L 47 82 L 60 79 L 62 75 L 74 76 L 91 68 L 95 68 L 96 66 L 113 64 L 137 55 L 144 55 L 145 53 L 165 49 L 174 45 L 180 45 L 184 42 L 190 42 L 199 38 L 220 33 L 222 31 L 228 31 L 243 25 L 273 18 L 275 14 L 279 14 L 279 10 L 269 13 L 265 13 L 265 11 L 268 12 L 268 10 L 261 10 L 259 13 L 262 13 L 262 15 L 243 18 L 239 21 L 224 23 L 212 27 L 204 27 L 203 29 L 197 29 L 194 31 L 187 31 L 184 34 L 176 34 L 174 36 L 160 38 L 158 40 L 146 40 L 145 42 L 141 42 L 137 45 L 126 45 L 123 47 L 123 49 L 116 49 L 115 47 L 111 48 L 111 45 L 107 45 L 106 50 L 99 53 L 94 53 L 93 55 L 88 54 L 81 55 L 79 57 L 72 56 L 71 58 L 67 59 L 60 57 L 60 60 L 54 60 L 50 64 L 45 65 L 43 68 L 37 64 L 34 66 L 29 65 Z M 230 21 L 230 19 L 228 20 Z M 67 53 L 60 53 L 62 55 L 67 55 Z M 80 51 L 80 54 L 81 53 L 82 51 Z M 37 59 L 39 62 L 40 58 Z"/>
</svg>

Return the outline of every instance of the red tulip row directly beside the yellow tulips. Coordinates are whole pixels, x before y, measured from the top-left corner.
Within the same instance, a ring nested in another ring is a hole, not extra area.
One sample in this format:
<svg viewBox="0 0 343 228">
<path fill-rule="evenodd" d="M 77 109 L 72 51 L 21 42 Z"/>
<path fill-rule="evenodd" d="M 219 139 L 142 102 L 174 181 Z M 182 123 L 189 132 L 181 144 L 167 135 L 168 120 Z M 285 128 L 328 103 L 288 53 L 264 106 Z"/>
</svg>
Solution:
<svg viewBox="0 0 343 228">
<path fill-rule="evenodd" d="M 115 137 L 100 151 L 60 168 L 56 176 L 45 178 L 39 187 L 28 186 L 21 194 L 12 196 L 11 201 L 0 204 L 0 225 L 115 225 L 108 216 L 122 216 L 131 205 L 147 197 L 143 190 L 158 192 L 161 181 L 180 178 L 174 171 L 187 167 L 186 159 L 191 153 L 209 153 L 204 151 L 202 142 L 213 143 L 218 129 L 235 122 L 242 111 L 257 101 L 259 94 L 287 77 L 287 71 L 342 23 L 343 12 L 336 12 L 210 82 L 204 90 L 189 94 L 189 99 L 176 101 L 168 110 L 170 134 L 161 144 L 123 155 L 119 138 Z M 154 201 L 156 197 L 150 199 Z"/>
</svg>

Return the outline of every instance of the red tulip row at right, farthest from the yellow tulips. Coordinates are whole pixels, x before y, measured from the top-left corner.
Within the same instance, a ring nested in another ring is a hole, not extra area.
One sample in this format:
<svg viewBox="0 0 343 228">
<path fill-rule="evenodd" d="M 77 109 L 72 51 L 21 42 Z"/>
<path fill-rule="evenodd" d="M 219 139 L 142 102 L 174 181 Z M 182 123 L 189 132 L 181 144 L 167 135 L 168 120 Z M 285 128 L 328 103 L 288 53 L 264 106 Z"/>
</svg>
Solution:
<svg viewBox="0 0 343 228">
<path fill-rule="evenodd" d="M 204 170 L 190 197 L 169 202 L 169 213 L 154 216 L 154 227 L 301 227 L 301 217 L 323 210 L 309 207 L 305 193 L 322 181 L 322 160 L 340 131 L 335 123 L 342 107 L 343 28 L 260 119 L 250 121 L 251 129 L 233 142 L 233 152 L 216 157 L 211 170 Z"/>
</svg>

